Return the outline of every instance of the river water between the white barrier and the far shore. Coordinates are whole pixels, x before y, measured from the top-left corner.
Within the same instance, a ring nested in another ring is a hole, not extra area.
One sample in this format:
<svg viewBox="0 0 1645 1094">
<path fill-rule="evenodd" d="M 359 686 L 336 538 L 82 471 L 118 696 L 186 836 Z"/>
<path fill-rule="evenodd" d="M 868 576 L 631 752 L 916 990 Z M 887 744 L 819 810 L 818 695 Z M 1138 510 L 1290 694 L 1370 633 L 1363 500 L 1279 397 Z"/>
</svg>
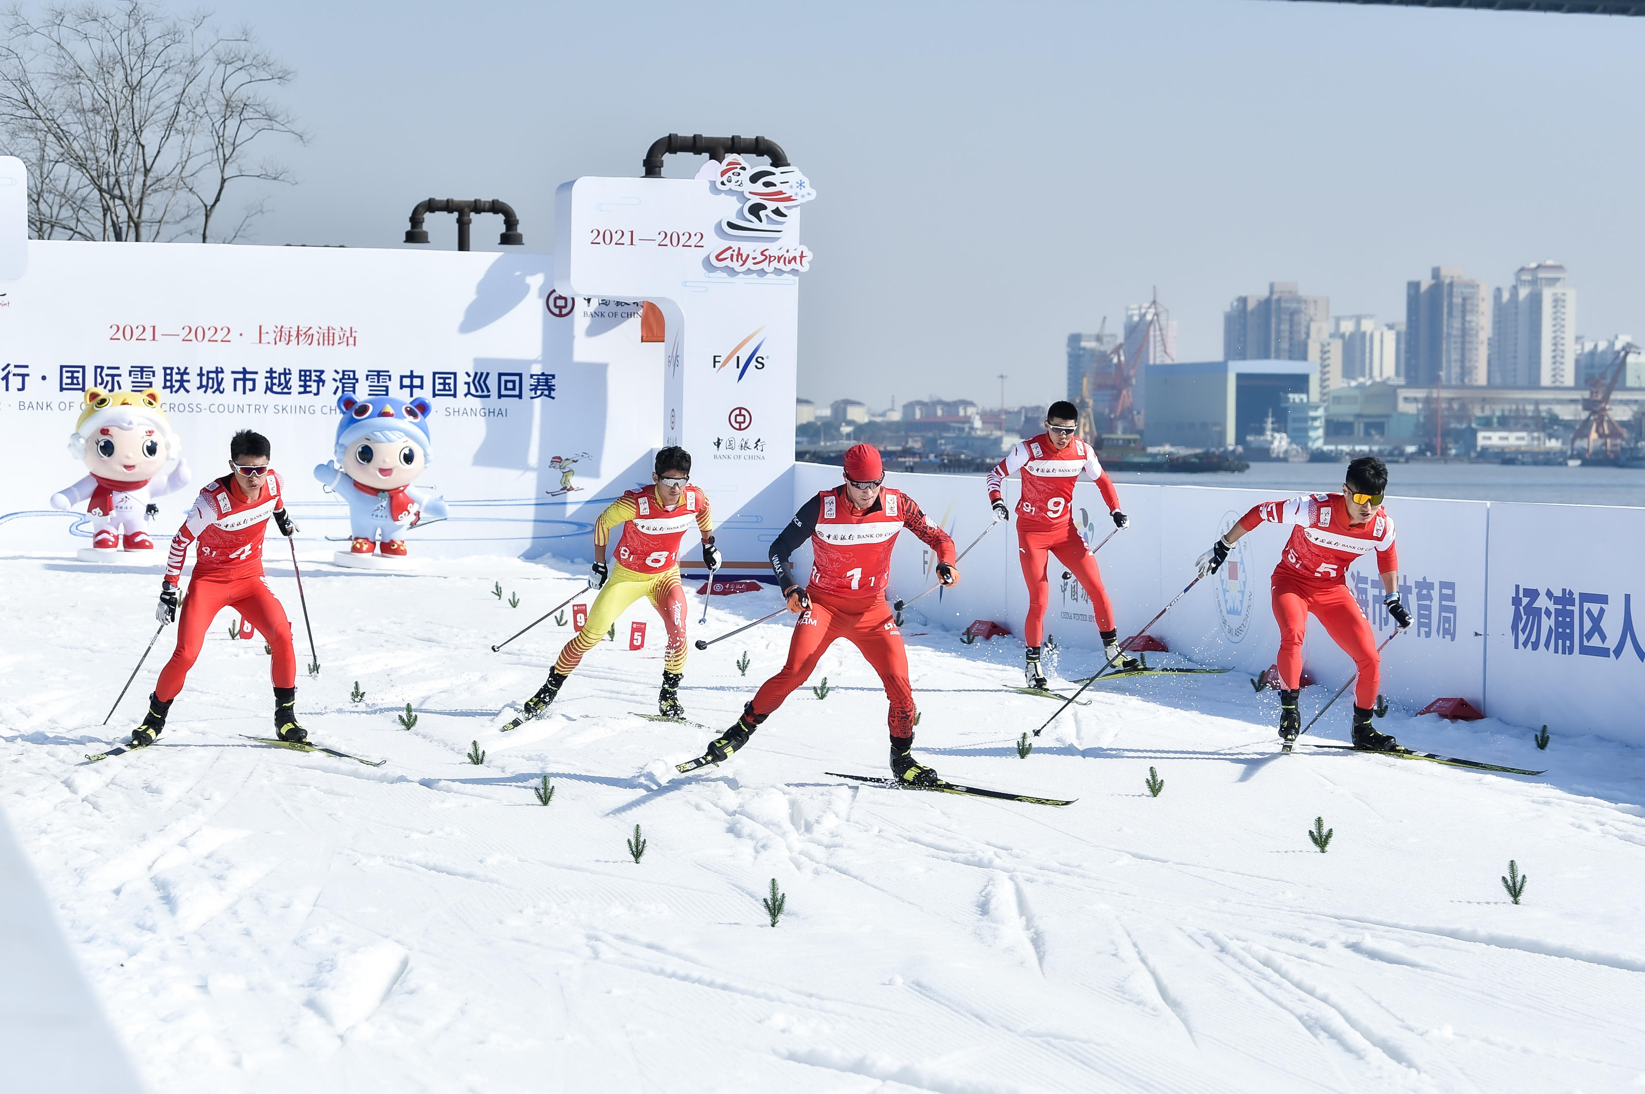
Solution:
<svg viewBox="0 0 1645 1094">
<path fill-rule="evenodd" d="M 1344 461 L 1342 467 L 1347 467 Z M 1250 471 L 1173 474 L 1112 471 L 1114 480 L 1158 485 L 1273 490 L 1291 497 L 1337 490 L 1342 469 L 1332 464 L 1252 464 Z M 1443 497 L 1474 502 L 1555 502 L 1561 505 L 1645 507 L 1645 469 L 1505 467 L 1502 464 L 1388 464 L 1390 497 Z"/>
</svg>

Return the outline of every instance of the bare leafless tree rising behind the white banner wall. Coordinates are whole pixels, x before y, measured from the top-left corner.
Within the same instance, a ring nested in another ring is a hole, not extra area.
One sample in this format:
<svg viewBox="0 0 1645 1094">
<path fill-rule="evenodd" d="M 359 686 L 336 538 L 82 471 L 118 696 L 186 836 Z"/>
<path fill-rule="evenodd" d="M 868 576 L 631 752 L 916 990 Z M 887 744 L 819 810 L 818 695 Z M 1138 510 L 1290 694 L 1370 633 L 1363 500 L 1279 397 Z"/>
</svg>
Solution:
<svg viewBox="0 0 1645 1094">
<path fill-rule="evenodd" d="M 207 21 L 148 0 L 0 15 L 0 140 L 38 169 L 36 235 L 204 242 L 230 189 L 291 181 L 252 145 L 308 140 L 271 95 L 293 71 L 250 30 Z M 227 240 L 262 209 L 252 202 Z"/>
</svg>

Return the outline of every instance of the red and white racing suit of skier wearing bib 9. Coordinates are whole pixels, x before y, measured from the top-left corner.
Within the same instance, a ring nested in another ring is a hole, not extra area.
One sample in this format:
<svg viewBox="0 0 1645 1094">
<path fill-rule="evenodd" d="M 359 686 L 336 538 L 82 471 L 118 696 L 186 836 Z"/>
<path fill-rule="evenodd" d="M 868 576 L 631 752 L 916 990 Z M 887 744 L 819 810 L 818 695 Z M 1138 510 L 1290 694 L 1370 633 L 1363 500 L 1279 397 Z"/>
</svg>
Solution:
<svg viewBox="0 0 1645 1094">
<path fill-rule="evenodd" d="M 1023 643 L 1038 647 L 1045 642 L 1045 610 L 1051 604 L 1051 582 L 1046 577 L 1046 553 L 1063 563 L 1091 597 L 1091 614 L 1097 630 L 1114 630 L 1114 604 L 1102 586 L 1097 559 L 1079 538 L 1074 526 L 1074 482 L 1081 474 L 1091 475 L 1107 502 L 1109 512 L 1120 507 L 1114 480 L 1102 471 L 1097 454 L 1079 438 L 1073 438 L 1058 451 L 1051 438 L 1041 433 L 1020 441 L 989 472 L 989 500 L 999 502 L 1008 477 L 1022 477 L 1022 498 L 1017 502 L 1017 561 L 1023 568 L 1028 586 L 1028 617 L 1023 620 Z"/>
</svg>

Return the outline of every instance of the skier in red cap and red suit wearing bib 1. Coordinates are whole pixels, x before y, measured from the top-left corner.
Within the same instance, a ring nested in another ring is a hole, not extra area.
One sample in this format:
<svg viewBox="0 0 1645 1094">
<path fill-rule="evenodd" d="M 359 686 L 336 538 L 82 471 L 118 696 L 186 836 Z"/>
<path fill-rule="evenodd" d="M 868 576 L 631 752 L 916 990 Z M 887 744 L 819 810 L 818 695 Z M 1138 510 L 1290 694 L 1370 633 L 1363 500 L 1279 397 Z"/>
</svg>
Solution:
<svg viewBox="0 0 1645 1094">
<path fill-rule="evenodd" d="M 880 451 L 857 444 L 846 452 L 846 482 L 822 490 L 799 507 L 795 518 L 772 545 L 772 569 L 788 597 L 788 610 L 799 615 L 788 645 L 783 671 L 760 686 L 744 706 L 742 717 L 725 735 L 709 745 L 707 755 L 722 762 L 748 744 L 758 729 L 799 684 L 836 638 L 862 650 L 885 684 L 890 699 L 887 724 L 892 730 L 892 773 L 910 786 L 929 786 L 936 772 L 913 758 L 915 696 L 908 684 L 908 651 L 897 630 L 892 605 L 885 602 L 885 581 L 892 569 L 892 546 L 906 528 L 936 551 L 938 581 L 959 582 L 954 541 L 926 523 L 915 500 L 882 485 L 885 467 Z M 811 540 L 811 579 L 806 587 L 790 571 L 788 558 Z"/>
</svg>

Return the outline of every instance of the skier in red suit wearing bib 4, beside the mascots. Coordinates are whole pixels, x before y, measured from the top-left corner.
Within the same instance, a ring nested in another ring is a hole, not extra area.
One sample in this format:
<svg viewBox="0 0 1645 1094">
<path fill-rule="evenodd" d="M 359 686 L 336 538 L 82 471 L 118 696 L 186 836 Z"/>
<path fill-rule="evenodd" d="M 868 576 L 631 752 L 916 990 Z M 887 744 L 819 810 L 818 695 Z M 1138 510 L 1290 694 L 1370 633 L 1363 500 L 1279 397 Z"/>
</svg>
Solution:
<svg viewBox="0 0 1645 1094">
<path fill-rule="evenodd" d="M 275 732 L 281 740 L 306 740 L 298 725 L 298 660 L 291 650 L 291 622 L 263 577 L 263 533 L 273 517 L 280 533 L 291 536 L 298 526 L 286 515 L 280 494 L 280 475 L 268 466 L 268 438 L 242 429 L 229 441 L 229 474 L 206 485 L 194 498 L 194 508 L 171 538 L 166 576 L 160 584 L 161 623 L 178 620 L 178 648 L 160 670 L 160 683 L 148 696 L 148 714 L 132 730 L 132 747 L 155 744 L 166 727 L 171 701 L 183 691 L 183 679 L 201 653 L 212 619 L 232 607 L 255 627 L 273 653 Z M 178 619 L 178 581 L 189 545 L 196 548 L 194 572 L 183 597 Z"/>
</svg>

